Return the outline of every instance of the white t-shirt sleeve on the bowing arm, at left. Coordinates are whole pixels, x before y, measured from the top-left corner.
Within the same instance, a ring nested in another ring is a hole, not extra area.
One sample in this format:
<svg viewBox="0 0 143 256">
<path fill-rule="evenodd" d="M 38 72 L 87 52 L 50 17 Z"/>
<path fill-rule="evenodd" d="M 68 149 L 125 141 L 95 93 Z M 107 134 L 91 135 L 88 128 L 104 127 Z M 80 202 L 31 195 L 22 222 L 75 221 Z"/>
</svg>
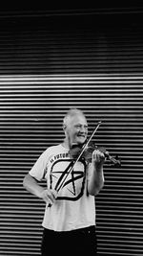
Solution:
<svg viewBox="0 0 143 256">
<path fill-rule="evenodd" d="M 36 160 L 29 174 L 39 181 L 42 180 L 45 176 L 47 161 L 48 161 L 48 153 L 47 151 L 44 151 Z"/>
</svg>

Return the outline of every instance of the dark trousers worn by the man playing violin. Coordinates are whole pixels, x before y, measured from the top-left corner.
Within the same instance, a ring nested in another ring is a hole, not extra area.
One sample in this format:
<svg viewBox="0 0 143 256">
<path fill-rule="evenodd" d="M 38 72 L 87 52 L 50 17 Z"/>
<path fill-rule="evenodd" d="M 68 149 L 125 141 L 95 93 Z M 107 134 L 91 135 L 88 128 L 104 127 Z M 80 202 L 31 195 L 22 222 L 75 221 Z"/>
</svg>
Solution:
<svg viewBox="0 0 143 256">
<path fill-rule="evenodd" d="M 42 245 L 42 256 L 50 255 L 96 255 L 96 233 L 95 227 L 90 226 L 72 231 L 56 232 L 44 229 Z M 82 254 L 79 254 L 82 253 Z"/>
</svg>

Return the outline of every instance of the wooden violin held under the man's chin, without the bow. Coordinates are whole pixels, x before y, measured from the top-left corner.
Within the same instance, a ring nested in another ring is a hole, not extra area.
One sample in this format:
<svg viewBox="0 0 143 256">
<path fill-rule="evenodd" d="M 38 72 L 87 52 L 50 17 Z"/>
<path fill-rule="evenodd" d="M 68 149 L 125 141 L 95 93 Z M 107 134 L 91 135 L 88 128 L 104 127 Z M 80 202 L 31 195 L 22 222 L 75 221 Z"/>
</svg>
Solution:
<svg viewBox="0 0 143 256">
<path fill-rule="evenodd" d="M 70 156 L 72 159 L 77 159 L 80 155 L 80 159 L 86 160 L 88 163 L 92 162 L 92 152 L 95 150 L 101 151 L 105 155 L 105 163 L 111 166 L 120 167 L 121 161 L 116 155 L 111 156 L 109 151 L 106 151 L 105 147 L 97 147 L 94 143 L 90 143 L 83 151 L 84 145 L 72 145 L 70 150 Z M 82 153 L 81 153 L 82 152 Z"/>
</svg>

